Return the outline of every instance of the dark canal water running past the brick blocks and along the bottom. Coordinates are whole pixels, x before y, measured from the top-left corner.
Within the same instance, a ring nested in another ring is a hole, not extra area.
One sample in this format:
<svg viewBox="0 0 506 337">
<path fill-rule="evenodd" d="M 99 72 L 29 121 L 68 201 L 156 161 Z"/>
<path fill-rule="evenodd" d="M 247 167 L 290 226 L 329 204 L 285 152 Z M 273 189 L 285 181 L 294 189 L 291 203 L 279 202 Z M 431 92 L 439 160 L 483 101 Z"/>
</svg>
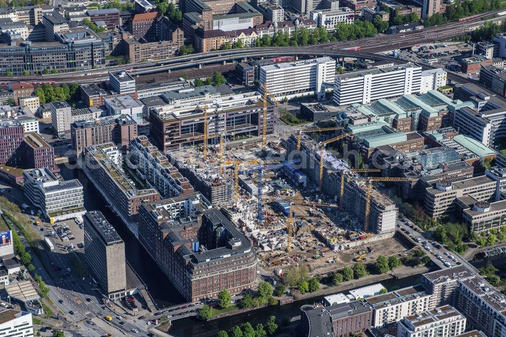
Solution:
<svg viewBox="0 0 506 337">
<path fill-rule="evenodd" d="M 151 297 L 159 308 L 184 303 L 185 300 L 179 294 L 171 281 L 162 273 L 160 268 L 151 259 L 146 250 L 141 246 L 135 236 L 125 227 L 119 217 L 106 207 L 107 202 L 97 191 L 95 186 L 88 180 L 85 173 L 78 168 L 68 168 L 60 165 L 60 174 L 66 180 L 78 179 L 85 194 L 85 207 L 87 210 L 100 210 L 106 219 L 114 226 L 119 236 L 125 242 L 125 255 L 130 265 L 134 268 L 142 281 L 146 284 Z M 401 279 L 388 279 L 381 283 L 388 290 L 395 290 L 419 282 L 420 275 L 414 275 Z M 366 285 L 363 285 L 366 286 Z M 362 287 L 362 286 L 360 286 Z M 350 289 L 352 290 L 352 289 Z M 209 322 L 199 321 L 194 316 L 173 321 L 170 333 L 174 336 L 216 336 L 219 330 L 228 330 L 234 325 L 250 322 L 255 326 L 257 323 L 265 323 L 271 315 L 278 319 L 300 315 L 300 307 L 304 304 L 321 302 L 323 296 L 293 302 L 284 306 L 266 307 L 239 315 L 224 317 Z"/>
</svg>

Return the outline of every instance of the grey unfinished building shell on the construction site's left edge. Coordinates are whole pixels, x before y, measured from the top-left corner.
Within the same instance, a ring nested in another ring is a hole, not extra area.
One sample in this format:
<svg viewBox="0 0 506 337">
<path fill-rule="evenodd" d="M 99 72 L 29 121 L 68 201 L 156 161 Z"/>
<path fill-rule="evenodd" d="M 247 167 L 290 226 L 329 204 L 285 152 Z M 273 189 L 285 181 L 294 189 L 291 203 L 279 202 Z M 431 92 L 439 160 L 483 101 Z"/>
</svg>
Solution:
<svg viewBox="0 0 506 337">
<path fill-rule="evenodd" d="M 200 156 L 178 157 L 177 152 L 167 154 L 181 174 L 188 179 L 196 191 L 212 204 L 224 204 L 234 200 L 234 181 L 220 177 L 216 162 L 204 162 Z"/>
</svg>

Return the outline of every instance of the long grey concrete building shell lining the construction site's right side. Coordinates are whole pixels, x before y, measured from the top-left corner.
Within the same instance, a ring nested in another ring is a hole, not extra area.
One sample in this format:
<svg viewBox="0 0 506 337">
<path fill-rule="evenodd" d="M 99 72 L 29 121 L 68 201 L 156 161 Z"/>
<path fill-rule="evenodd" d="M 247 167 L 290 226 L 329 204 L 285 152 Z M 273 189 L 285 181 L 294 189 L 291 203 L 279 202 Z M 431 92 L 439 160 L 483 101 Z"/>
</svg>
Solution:
<svg viewBox="0 0 506 337">
<path fill-rule="evenodd" d="M 292 135 L 288 138 L 286 151 L 287 153 L 297 151 L 297 136 Z M 324 160 L 322 192 L 332 196 L 333 202 L 339 203 L 345 212 L 364 223 L 367 183 L 360 181 L 360 176 L 354 173 L 344 160 L 336 158 L 329 151 L 324 150 L 323 157 L 320 158 L 319 144 L 304 134 L 301 138 L 300 155 L 302 157 L 301 170 L 316 184 L 320 179 L 320 160 Z M 346 198 L 340 200 L 342 175 L 345 175 L 343 195 L 346 195 Z M 371 188 L 369 231 L 376 234 L 394 232 L 396 215 L 397 206 L 388 197 Z"/>
</svg>

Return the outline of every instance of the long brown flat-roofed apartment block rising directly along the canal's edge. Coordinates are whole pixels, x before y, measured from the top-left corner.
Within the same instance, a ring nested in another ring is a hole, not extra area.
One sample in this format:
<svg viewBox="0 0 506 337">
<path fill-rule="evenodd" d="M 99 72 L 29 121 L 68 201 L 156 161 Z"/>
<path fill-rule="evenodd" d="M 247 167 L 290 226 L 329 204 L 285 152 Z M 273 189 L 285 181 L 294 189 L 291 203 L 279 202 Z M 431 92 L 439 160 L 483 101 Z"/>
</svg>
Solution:
<svg viewBox="0 0 506 337">
<path fill-rule="evenodd" d="M 100 186 L 106 199 L 124 219 L 135 221 L 142 204 L 160 200 L 160 194 L 153 188 L 138 189 L 132 179 L 108 156 L 107 149 L 110 148 L 116 148 L 116 145 L 105 143 L 87 147 L 83 171 L 92 181 L 98 182 L 96 184 Z M 130 229 L 137 235 L 135 228 Z"/>
</svg>

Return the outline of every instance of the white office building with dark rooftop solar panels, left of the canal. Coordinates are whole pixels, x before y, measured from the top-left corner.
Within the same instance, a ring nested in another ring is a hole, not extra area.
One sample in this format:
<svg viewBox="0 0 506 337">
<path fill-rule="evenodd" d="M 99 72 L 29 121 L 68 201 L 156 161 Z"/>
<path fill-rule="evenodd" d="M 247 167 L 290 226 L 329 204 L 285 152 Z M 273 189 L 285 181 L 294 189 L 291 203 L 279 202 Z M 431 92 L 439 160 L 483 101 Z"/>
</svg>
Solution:
<svg viewBox="0 0 506 337">
<path fill-rule="evenodd" d="M 59 180 L 47 168 L 23 170 L 23 179 L 25 196 L 46 219 L 65 220 L 86 213 L 77 179 Z"/>
</svg>

